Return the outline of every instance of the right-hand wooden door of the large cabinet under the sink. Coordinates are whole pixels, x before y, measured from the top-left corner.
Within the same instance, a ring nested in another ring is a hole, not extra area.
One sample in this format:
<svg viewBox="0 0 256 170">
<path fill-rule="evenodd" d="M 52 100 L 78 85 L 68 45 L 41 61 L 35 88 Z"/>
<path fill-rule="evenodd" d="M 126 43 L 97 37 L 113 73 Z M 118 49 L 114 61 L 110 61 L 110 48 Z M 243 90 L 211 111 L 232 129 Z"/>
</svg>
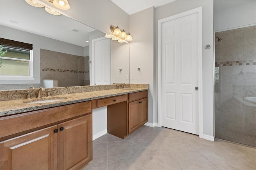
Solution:
<svg viewBox="0 0 256 170">
<path fill-rule="evenodd" d="M 58 125 L 59 170 L 81 169 L 92 160 L 92 114 Z"/>
</svg>

